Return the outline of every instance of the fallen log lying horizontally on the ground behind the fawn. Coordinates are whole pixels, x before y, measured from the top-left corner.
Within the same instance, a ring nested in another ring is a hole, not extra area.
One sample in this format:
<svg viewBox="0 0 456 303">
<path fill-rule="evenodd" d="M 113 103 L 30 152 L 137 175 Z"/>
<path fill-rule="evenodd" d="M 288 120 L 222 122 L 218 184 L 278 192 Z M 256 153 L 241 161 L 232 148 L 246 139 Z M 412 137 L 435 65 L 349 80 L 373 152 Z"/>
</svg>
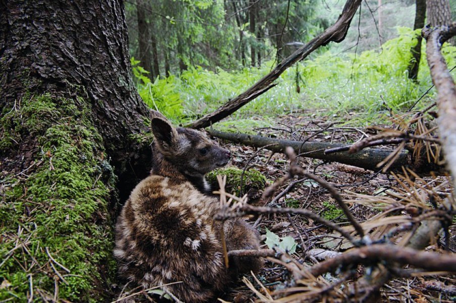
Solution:
<svg viewBox="0 0 456 303">
<path fill-rule="evenodd" d="M 264 147 L 265 149 L 282 153 L 287 146 L 291 146 L 296 154 L 302 157 L 309 157 L 314 159 L 321 159 L 331 162 L 339 162 L 343 164 L 353 165 L 370 170 L 379 170 L 377 164 L 383 161 L 392 151 L 380 148 L 365 148 L 362 151 L 350 154 L 347 151 L 325 154 L 325 150 L 343 147 L 346 144 L 340 143 L 326 143 L 326 142 L 301 142 L 293 140 L 284 140 L 276 138 L 268 138 L 262 136 L 238 134 L 238 133 L 224 133 L 213 129 L 208 129 L 209 134 L 216 138 L 228 140 L 234 143 L 240 143 L 252 147 Z M 417 166 L 417 161 L 412 161 L 412 157 L 407 150 L 399 153 L 397 159 L 390 166 L 390 170 L 402 171 L 402 166 L 411 167 L 416 172 L 430 172 L 434 171 L 441 173 L 444 171 L 442 166 L 424 161 L 418 161 L 420 166 Z"/>
</svg>

